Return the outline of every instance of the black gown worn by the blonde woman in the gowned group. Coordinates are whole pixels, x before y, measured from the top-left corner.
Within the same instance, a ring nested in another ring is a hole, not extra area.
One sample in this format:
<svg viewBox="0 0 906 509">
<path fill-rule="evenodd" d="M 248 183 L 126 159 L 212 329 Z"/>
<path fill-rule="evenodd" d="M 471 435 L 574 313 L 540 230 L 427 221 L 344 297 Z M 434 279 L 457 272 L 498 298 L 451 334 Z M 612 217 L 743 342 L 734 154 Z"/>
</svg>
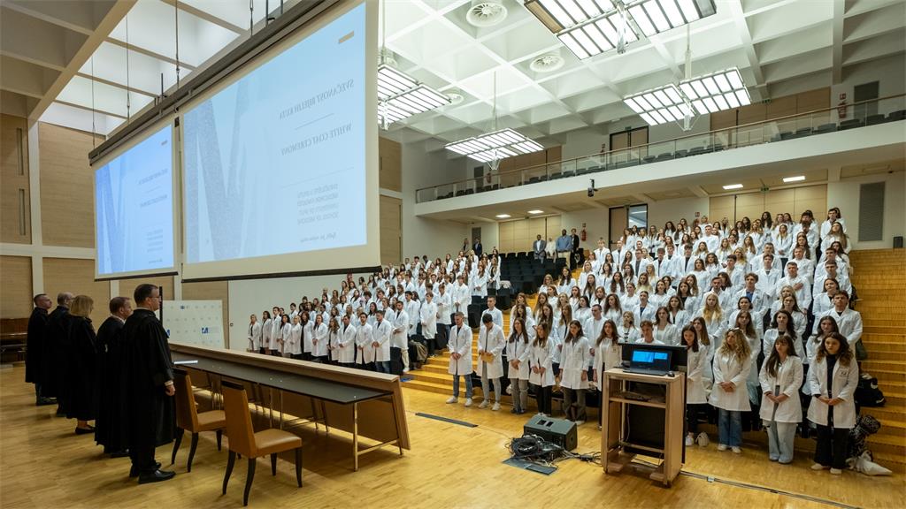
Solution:
<svg viewBox="0 0 906 509">
<path fill-rule="evenodd" d="M 94 420 L 97 414 L 98 350 L 90 318 L 69 315 L 69 369 L 66 417 Z"/>
</svg>

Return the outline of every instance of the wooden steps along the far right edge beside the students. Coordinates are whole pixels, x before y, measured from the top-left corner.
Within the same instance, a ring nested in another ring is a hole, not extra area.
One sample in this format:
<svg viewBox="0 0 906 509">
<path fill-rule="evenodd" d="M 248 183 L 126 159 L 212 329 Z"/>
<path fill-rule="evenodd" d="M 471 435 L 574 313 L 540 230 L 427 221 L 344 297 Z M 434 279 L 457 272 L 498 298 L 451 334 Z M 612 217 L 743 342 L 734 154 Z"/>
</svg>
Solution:
<svg viewBox="0 0 906 509">
<path fill-rule="evenodd" d="M 876 249 L 853 251 L 853 286 L 862 313 L 862 341 L 868 360 L 863 372 L 878 379 L 887 403 L 862 408 L 881 421 L 868 439 L 875 461 L 894 472 L 906 472 L 906 251 Z"/>
</svg>

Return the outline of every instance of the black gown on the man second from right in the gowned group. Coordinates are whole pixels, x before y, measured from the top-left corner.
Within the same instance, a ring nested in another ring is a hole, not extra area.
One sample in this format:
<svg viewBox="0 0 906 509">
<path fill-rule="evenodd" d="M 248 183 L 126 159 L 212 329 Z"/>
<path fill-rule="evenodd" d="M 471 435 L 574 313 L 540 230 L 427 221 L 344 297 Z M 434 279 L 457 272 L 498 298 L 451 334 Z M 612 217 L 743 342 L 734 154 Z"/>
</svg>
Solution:
<svg viewBox="0 0 906 509">
<path fill-rule="evenodd" d="M 120 391 L 120 368 L 122 366 L 123 322 L 110 316 L 98 328 L 98 415 L 94 420 L 94 440 L 112 451 L 126 448 L 125 437 L 120 432 L 123 419 Z"/>
</svg>

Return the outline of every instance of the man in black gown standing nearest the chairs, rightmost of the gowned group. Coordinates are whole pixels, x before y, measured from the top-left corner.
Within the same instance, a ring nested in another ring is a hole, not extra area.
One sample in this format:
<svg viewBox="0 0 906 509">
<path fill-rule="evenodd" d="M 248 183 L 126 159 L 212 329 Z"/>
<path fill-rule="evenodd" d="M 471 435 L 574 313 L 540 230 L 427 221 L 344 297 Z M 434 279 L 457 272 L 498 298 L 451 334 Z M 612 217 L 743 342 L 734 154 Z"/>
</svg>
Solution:
<svg viewBox="0 0 906 509">
<path fill-rule="evenodd" d="M 173 441 L 176 413 L 173 395 L 173 363 L 167 331 L 154 312 L 160 308 L 160 291 L 153 284 L 140 284 L 134 293 L 136 309 L 122 329 L 123 425 L 132 460 L 130 476 L 139 484 L 166 481 L 175 472 L 160 470 L 154 449 Z"/>
</svg>

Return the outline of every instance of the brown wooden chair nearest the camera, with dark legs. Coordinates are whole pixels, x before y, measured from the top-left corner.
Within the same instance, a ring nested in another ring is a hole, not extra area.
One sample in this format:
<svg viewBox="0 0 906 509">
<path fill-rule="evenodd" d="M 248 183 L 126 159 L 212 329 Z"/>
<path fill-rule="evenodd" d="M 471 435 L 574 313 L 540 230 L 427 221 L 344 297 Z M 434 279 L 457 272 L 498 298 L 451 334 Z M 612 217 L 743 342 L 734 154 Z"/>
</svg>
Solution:
<svg viewBox="0 0 906 509">
<path fill-rule="evenodd" d="M 248 492 L 255 478 L 255 461 L 260 456 L 271 455 L 271 475 L 277 475 L 277 454 L 284 451 L 295 451 L 295 482 L 302 487 L 302 438 L 282 429 L 265 429 L 255 433 L 252 427 L 252 416 L 248 411 L 246 388 L 235 382 L 223 380 L 221 389 L 224 395 L 226 410 L 226 437 L 229 457 L 226 462 L 223 494 L 236 464 L 236 454 L 248 458 L 246 475 L 246 493 L 242 504 L 248 505 Z"/>
</svg>

